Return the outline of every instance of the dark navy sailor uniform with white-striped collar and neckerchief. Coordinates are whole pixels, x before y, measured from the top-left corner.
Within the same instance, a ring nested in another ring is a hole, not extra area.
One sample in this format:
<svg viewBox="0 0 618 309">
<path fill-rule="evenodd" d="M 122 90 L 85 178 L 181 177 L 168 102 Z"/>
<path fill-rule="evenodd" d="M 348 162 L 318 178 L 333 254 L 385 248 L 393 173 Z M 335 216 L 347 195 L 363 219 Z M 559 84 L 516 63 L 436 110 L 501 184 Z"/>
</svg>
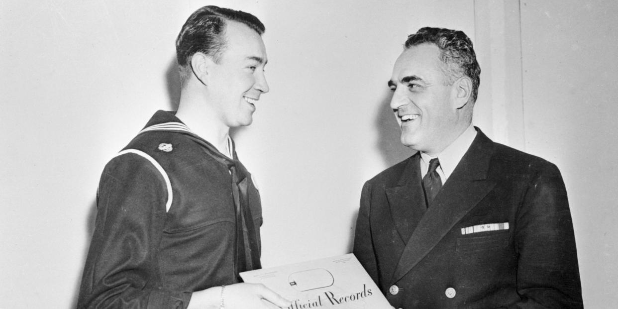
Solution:
<svg viewBox="0 0 618 309">
<path fill-rule="evenodd" d="M 78 308 L 187 308 L 193 291 L 260 268 L 250 173 L 158 111 L 105 166 Z"/>
</svg>

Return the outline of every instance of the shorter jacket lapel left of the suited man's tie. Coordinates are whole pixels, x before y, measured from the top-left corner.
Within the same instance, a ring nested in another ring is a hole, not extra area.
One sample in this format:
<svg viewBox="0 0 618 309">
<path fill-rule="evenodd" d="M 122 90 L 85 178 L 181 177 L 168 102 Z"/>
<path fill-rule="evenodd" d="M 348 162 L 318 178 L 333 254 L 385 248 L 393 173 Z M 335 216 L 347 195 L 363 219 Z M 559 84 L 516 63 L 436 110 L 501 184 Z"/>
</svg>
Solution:
<svg viewBox="0 0 618 309">
<path fill-rule="evenodd" d="M 425 193 L 421 186 L 419 159 L 420 153 L 413 155 L 397 185 L 386 188 L 392 220 L 404 244 L 410 239 L 410 235 L 427 209 Z"/>
</svg>

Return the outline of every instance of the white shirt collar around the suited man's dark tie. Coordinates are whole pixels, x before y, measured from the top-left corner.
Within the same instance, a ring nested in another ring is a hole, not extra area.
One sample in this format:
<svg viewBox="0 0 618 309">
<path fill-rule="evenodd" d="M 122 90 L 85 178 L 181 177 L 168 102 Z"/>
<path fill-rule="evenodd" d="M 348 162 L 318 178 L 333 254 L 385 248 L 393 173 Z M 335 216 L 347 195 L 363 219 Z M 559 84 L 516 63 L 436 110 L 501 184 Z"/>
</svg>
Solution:
<svg viewBox="0 0 618 309">
<path fill-rule="evenodd" d="M 474 126 L 470 124 L 468 129 L 464 131 L 451 145 L 447 146 L 442 150 L 441 153 L 438 154 L 437 158 L 440 160 L 440 166 L 438 167 L 438 173 L 442 179 L 442 184 L 446 182 L 447 179 L 451 176 L 459 161 L 464 158 L 466 151 L 472 145 L 474 138 L 476 137 L 476 130 Z M 433 158 L 426 153 L 421 153 L 421 175 L 425 176 L 427 174 L 427 169 L 429 167 L 429 161 Z"/>
</svg>

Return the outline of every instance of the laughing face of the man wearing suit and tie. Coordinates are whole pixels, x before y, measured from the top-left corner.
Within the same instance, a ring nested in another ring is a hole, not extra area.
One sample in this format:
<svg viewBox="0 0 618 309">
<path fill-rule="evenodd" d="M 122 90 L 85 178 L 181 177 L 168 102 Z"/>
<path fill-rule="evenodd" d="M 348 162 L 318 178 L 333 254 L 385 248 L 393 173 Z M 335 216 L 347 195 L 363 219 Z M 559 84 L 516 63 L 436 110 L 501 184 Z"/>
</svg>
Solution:
<svg viewBox="0 0 618 309">
<path fill-rule="evenodd" d="M 459 136 L 462 115 L 457 90 L 444 75 L 435 44 L 412 46 L 395 62 L 389 87 L 401 142 L 437 155 Z"/>
</svg>

